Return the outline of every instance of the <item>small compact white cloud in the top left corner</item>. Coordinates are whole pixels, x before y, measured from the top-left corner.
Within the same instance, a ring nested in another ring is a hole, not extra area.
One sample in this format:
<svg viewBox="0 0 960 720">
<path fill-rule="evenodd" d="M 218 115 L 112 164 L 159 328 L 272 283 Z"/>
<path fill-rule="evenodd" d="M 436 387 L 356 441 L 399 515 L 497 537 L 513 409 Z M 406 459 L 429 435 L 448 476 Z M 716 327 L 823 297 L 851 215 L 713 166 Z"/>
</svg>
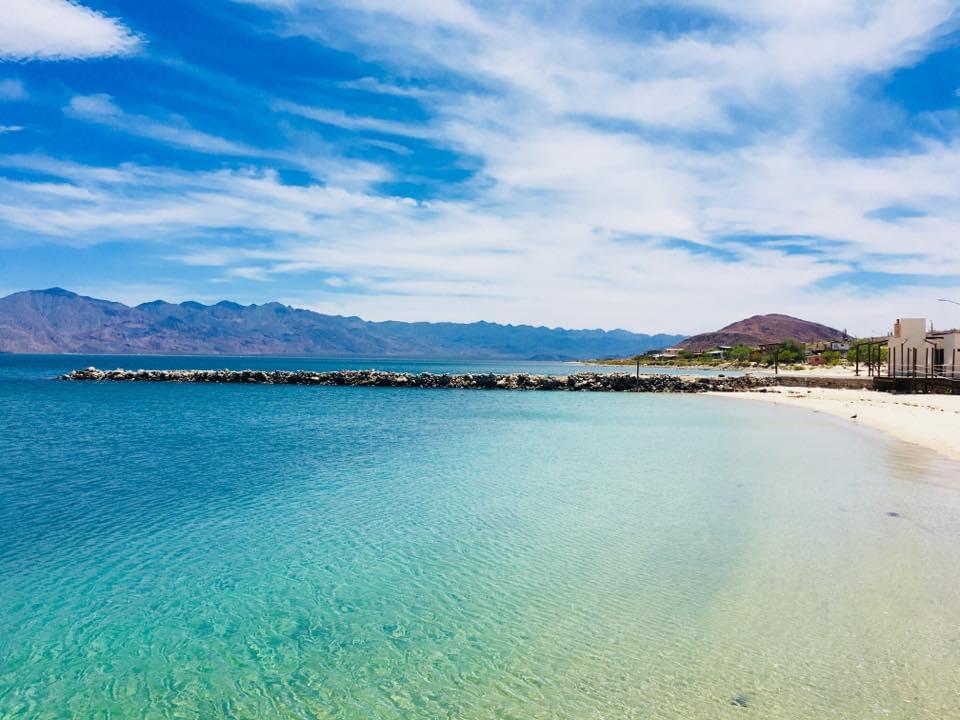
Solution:
<svg viewBox="0 0 960 720">
<path fill-rule="evenodd" d="M 140 40 L 119 20 L 70 0 L 3 0 L 0 60 L 125 55 Z"/>
</svg>

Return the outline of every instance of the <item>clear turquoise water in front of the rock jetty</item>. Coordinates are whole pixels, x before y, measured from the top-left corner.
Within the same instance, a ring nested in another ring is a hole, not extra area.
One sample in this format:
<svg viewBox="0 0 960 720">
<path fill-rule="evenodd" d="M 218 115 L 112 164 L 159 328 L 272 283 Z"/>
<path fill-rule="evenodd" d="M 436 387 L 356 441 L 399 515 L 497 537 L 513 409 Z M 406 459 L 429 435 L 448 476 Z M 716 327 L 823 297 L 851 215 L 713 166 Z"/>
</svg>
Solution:
<svg viewBox="0 0 960 720">
<path fill-rule="evenodd" d="M 960 717 L 929 453 L 717 398 L 75 366 L 0 358 L 0 718 Z"/>
</svg>

